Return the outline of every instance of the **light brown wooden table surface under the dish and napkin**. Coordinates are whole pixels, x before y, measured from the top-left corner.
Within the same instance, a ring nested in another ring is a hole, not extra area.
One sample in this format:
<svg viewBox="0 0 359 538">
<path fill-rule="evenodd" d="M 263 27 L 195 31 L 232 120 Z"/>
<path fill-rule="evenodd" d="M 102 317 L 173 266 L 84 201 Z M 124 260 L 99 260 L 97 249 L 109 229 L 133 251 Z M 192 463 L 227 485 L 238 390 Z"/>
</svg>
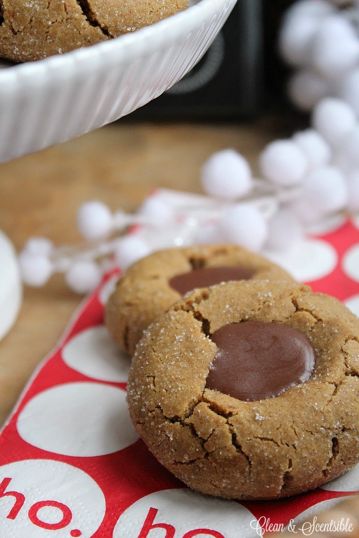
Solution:
<svg viewBox="0 0 359 538">
<path fill-rule="evenodd" d="M 76 244 L 81 203 L 97 199 L 112 210 L 133 211 L 156 187 L 200 193 L 200 167 L 210 154 L 233 147 L 256 170 L 265 144 L 292 129 L 292 118 L 274 115 L 226 125 L 116 122 L 1 164 L 0 229 L 17 251 L 31 236 Z M 0 424 L 80 301 L 61 275 L 42 288 L 25 287 L 18 319 L 0 342 Z"/>
</svg>

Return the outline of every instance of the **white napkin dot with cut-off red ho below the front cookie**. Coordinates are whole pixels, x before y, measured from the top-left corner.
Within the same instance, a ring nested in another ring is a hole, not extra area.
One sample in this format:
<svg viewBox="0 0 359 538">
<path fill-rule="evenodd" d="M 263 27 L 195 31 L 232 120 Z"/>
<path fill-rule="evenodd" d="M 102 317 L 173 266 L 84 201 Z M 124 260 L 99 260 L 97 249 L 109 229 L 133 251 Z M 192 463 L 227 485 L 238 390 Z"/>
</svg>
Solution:
<svg viewBox="0 0 359 538">
<path fill-rule="evenodd" d="M 151 529 L 153 525 L 157 527 Z M 187 489 L 165 490 L 146 495 L 127 508 L 116 523 L 113 538 L 157 538 L 166 532 L 178 537 L 190 533 L 201 538 L 254 538 L 257 525 L 255 516 L 238 502 Z"/>
</svg>

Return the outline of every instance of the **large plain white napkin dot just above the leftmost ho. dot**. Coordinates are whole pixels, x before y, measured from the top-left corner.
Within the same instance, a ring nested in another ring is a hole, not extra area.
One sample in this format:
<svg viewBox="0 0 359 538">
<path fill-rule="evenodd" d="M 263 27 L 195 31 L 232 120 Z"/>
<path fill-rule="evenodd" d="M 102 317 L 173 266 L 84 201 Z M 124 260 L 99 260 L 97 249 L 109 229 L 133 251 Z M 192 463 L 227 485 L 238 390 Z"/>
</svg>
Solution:
<svg viewBox="0 0 359 538">
<path fill-rule="evenodd" d="M 67 456 L 111 454 L 138 436 L 119 388 L 97 383 L 67 383 L 48 388 L 24 407 L 19 435 L 43 450 Z"/>
</svg>

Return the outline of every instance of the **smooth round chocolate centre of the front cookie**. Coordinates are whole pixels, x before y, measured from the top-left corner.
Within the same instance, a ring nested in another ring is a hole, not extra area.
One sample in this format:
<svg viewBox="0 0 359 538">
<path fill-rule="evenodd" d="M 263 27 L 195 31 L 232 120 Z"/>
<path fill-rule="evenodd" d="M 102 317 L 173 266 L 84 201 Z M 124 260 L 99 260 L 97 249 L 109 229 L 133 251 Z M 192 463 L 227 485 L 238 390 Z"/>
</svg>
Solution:
<svg viewBox="0 0 359 538">
<path fill-rule="evenodd" d="M 238 400 L 278 396 L 307 381 L 315 352 L 307 337 L 283 323 L 229 323 L 211 336 L 219 351 L 207 377 L 207 388 Z"/>
</svg>

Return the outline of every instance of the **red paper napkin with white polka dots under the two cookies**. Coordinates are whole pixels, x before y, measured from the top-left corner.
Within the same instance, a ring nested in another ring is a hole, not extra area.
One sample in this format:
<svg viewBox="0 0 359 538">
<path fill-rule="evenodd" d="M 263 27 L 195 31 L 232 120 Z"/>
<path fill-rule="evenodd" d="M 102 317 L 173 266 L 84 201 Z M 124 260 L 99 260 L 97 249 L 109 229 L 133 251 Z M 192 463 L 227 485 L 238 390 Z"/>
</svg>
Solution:
<svg viewBox="0 0 359 538">
<path fill-rule="evenodd" d="M 277 261 L 359 314 L 359 220 Z M 318 490 L 237 502 L 187 489 L 151 456 L 126 408 L 129 357 L 103 324 L 117 273 L 74 315 L 0 434 L 0 538 L 252 538 L 359 493 L 359 465 Z M 297 526 L 297 527 L 296 527 Z"/>
</svg>

